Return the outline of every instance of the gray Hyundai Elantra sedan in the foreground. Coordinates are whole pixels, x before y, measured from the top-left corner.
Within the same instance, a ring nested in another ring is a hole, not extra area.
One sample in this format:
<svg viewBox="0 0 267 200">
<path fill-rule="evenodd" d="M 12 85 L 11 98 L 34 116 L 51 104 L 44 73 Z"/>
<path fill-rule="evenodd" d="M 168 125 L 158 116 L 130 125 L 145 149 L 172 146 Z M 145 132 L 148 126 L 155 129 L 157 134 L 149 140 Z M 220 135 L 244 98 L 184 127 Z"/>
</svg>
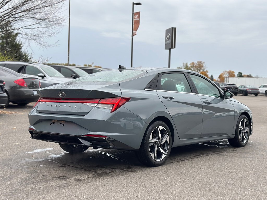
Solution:
<svg viewBox="0 0 267 200">
<path fill-rule="evenodd" d="M 189 70 L 119 66 L 38 94 L 29 113 L 31 138 L 69 153 L 134 150 L 140 162 L 160 166 L 171 147 L 222 139 L 243 147 L 252 134 L 250 109 Z"/>
</svg>

